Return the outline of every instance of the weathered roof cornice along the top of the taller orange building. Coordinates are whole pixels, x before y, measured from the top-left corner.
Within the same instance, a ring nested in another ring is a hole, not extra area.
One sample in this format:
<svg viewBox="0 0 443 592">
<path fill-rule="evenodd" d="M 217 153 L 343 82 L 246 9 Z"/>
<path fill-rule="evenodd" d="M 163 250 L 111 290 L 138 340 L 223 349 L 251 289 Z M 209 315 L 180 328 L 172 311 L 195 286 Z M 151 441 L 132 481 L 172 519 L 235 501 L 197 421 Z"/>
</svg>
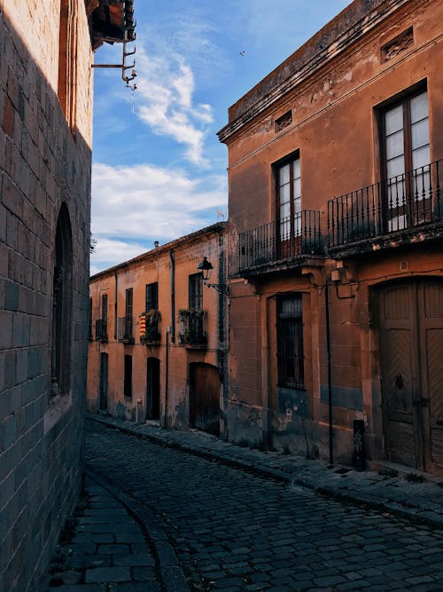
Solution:
<svg viewBox="0 0 443 592">
<path fill-rule="evenodd" d="M 238 130 L 296 89 L 309 76 L 315 75 L 405 4 L 410 4 L 410 0 L 354 0 L 299 50 L 229 107 L 229 123 L 217 132 L 219 140 L 228 143 L 229 138 Z"/>
</svg>

